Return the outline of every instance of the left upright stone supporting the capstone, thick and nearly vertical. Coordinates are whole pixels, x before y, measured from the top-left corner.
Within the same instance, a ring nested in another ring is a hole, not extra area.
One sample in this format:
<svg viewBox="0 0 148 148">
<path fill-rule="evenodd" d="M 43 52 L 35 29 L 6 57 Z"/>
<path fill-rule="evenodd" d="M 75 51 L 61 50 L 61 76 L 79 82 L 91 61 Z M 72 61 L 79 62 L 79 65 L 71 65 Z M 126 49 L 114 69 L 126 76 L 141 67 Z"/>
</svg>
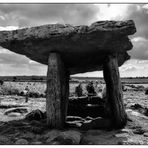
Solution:
<svg viewBox="0 0 148 148">
<path fill-rule="evenodd" d="M 62 128 L 65 123 L 69 95 L 69 74 L 58 53 L 50 53 L 47 72 L 46 112 L 50 128 Z"/>
</svg>

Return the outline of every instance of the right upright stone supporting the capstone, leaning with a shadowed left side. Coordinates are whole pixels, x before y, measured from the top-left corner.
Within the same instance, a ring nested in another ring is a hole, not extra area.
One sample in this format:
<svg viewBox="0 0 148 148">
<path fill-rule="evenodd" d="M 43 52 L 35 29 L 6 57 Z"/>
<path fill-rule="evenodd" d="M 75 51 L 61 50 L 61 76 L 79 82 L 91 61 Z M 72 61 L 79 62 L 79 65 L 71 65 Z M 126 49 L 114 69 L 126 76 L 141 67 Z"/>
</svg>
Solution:
<svg viewBox="0 0 148 148">
<path fill-rule="evenodd" d="M 126 125 L 127 115 L 123 105 L 122 84 L 119 75 L 117 55 L 108 55 L 103 64 L 103 74 L 108 93 L 107 104 L 114 128 Z"/>
</svg>

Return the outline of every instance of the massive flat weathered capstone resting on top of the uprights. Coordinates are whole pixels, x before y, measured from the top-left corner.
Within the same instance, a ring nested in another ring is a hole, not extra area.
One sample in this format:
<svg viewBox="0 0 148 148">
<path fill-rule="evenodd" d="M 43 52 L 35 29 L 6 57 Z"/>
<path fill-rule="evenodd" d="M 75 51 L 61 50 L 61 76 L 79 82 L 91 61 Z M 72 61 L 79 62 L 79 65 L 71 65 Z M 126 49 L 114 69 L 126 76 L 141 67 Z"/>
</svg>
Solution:
<svg viewBox="0 0 148 148">
<path fill-rule="evenodd" d="M 47 64 L 50 52 L 59 52 L 70 74 L 102 70 L 108 53 L 118 53 L 121 66 L 132 48 L 128 35 L 136 32 L 134 22 L 100 21 L 90 26 L 44 25 L 0 32 L 0 46 Z"/>
</svg>

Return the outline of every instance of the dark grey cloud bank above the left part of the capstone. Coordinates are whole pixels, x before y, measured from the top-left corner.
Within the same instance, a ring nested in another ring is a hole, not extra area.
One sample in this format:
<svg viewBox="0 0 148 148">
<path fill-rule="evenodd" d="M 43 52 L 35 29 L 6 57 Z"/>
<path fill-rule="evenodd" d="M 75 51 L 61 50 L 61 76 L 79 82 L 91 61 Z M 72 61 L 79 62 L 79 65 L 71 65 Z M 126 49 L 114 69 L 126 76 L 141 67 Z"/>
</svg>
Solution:
<svg viewBox="0 0 148 148">
<path fill-rule="evenodd" d="M 0 4 L 0 23 L 36 26 L 48 23 L 90 24 L 96 20 L 98 7 L 93 4 Z"/>
</svg>

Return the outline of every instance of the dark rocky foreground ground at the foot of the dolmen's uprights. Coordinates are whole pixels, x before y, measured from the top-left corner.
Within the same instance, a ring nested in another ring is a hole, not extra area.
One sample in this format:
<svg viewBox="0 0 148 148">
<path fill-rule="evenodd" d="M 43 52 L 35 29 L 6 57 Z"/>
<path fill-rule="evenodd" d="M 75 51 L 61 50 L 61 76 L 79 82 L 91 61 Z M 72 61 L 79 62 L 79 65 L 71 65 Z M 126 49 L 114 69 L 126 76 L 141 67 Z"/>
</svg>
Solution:
<svg viewBox="0 0 148 148">
<path fill-rule="evenodd" d="M 130 109 L 127 113 L 131 121 L 121 130 L 44 130 L 37 121 L 1 122 L 0 144 L 148 144 L 148 118 Z"/>
</svg>

